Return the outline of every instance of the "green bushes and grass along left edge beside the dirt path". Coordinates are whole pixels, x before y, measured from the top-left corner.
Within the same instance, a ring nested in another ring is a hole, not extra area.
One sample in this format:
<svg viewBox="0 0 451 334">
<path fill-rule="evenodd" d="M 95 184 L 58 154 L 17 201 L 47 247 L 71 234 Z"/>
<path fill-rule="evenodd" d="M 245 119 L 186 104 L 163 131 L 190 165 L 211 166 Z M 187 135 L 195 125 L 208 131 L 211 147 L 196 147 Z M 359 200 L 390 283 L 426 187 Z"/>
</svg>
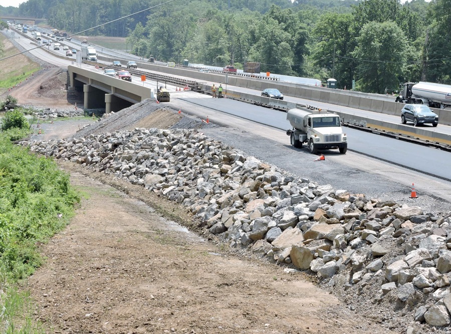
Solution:
<svg viewBox="0 0 451 334">
<path fill-rule="evenodd" d="M 29 134 L 24 113 L 4 113 L 0 131 L 0 332 L 44 333 L 33 303 L 20 292 L 24 279 L 45 260 L 39 245 L 64 228 L 80 201 L 69 174 L 52 159 L 14 140 Z"/>
</svg>

